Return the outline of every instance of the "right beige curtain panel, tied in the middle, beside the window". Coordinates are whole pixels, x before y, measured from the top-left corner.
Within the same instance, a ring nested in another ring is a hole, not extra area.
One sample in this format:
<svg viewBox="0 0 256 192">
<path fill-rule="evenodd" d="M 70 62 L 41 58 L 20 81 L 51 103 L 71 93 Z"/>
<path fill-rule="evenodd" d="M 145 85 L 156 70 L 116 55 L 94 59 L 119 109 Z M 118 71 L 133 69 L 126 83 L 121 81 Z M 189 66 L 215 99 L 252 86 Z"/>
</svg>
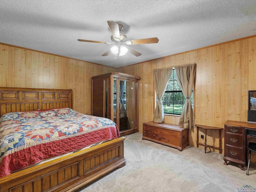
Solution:
<svg viewBox="0 0 256 192">
<path fill-rule="evenodd" d="M 183 66 L 175 67 L 178 83 L 180 88 L 186 97 L 186 101 L 180 115 L 180 125 L 184 128 L 194 128 L 194 114 L 191 104 L 191 94 L 194 86 L 196 64 L 188 64 Z"/>
</svg>

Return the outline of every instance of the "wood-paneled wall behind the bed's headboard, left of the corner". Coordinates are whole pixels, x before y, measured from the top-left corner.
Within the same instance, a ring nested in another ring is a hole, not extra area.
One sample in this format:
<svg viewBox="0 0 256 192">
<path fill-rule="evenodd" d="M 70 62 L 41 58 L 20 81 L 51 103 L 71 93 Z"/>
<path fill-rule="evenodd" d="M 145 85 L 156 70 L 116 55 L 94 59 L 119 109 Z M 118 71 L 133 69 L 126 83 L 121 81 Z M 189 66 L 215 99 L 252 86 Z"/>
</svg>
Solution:
<svg viewBox="0 0 256 192">
<path fill-rule="evenodd" d="M 0 86 L 72 89 L 74 110 L 91 114 L 91 77 L 116 68 L 0 44 Z"/>
</svg>

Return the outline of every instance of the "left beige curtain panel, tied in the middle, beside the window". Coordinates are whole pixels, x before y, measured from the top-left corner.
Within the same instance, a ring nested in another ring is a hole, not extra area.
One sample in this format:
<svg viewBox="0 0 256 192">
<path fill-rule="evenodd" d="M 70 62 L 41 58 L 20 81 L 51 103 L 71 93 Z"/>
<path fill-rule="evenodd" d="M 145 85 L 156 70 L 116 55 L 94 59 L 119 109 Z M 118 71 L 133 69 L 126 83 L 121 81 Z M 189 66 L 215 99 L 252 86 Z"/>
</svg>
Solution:
<svg viewBox="0 0 256 192">
<path fill-rule="evenodd" d="M 165 68 L 165 69 L 155 69 L 153 70 L 153 77 L 154 77 L 154 84 L 156 90 L 156 109 L 154 113 L 154 122 L 162 123 L 164 122 L 164 109 L 163 109 L 163 102 L 162 97 L 166 90 L 168 80 L 172 73 L 172 68 Z"/>
</svg>

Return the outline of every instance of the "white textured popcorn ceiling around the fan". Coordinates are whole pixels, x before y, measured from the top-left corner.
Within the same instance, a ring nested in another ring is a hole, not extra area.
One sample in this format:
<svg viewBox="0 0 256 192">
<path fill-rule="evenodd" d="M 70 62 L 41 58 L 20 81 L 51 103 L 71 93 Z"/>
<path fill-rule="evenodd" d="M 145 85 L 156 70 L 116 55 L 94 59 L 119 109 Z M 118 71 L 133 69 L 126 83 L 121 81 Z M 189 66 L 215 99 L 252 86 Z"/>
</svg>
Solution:
<svg viewBox="0 0 256 192">
<path fill-rule="evenodd" d="M 142 53 L 101 56 L 111 42 L 107 20 L 124 26 Z M 121 67 L 256 34 L 256 0 L 1 0 L 0 42 Z"/>
</svg>

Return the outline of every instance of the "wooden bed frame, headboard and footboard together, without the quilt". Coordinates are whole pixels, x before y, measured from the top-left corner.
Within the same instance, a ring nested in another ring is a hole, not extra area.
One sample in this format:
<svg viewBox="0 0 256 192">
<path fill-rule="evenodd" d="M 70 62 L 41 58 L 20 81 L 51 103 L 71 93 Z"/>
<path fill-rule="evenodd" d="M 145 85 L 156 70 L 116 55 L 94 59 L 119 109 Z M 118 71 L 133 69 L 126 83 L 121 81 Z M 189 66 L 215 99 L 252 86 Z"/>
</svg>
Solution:
<svg viewBox="0 0 256 192">
<path fill-rule="evenodd" d="M 0 88 L 0 116 L 55 108 L 72 111 L 72 97 L 72 90 Z M 0 192 L 77 190 L 125 165 L 124 139 L 116 138 L 0 177 Z"/>
</svg>

